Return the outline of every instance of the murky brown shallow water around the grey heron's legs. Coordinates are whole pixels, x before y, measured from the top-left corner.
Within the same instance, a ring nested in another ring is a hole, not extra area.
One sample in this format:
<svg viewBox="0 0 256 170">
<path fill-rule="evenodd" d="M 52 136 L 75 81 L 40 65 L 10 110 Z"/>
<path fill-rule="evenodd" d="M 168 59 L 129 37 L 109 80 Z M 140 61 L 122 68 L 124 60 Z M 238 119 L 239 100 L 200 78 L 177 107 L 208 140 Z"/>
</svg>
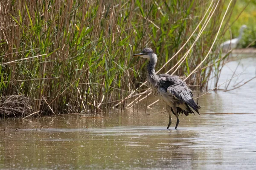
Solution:
<svg viewBox="0 0 256 170">
<path fill-rule="evenodd" d="M 228 63 L 220 84 L 237 63 Z M 229 88 L 255 77 L 255 63 L 253 57 L 242 59 L 237 73 L 244 73 Z M 147 115 L 142 104 L 139 113 L 113 110 L 106 118 L 33 119 L 17 131 L 24 120 L 7 119 L 6 133 L 0 120 L 0 169 L 255 169 L 255 84 L 253 79 L 233 91 L 201 97 L 201 115 L 180 116 L 178 130 L 175 116 L 166 130 L 169 118 L 160 103 Z"/>
</svg>

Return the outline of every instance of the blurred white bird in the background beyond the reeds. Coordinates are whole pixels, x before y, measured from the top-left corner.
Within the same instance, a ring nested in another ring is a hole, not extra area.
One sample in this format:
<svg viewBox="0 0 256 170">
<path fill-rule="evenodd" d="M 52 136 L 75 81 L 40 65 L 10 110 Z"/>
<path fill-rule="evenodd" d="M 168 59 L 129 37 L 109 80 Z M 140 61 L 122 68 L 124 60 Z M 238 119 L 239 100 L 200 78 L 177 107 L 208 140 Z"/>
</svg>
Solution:
<svg viewBox="0 0 256 170">
<path fill-rule="evenodd" d="M 246 25 L 241 26 L 240 33 L 239 33 L 239 36 L 237 38 L 234 38 L 232 40 L 227 40 L 227 41 L 225 41 L 221 44 L 221 48 L 222 48 L 223 51 L 228 51 L 228 50 L 236 48 L 236 45 L 242 39 L 242 34 L 243 34 L 243 31 L 244 31 L 244 28 L 247 28 L 247 26 Z"/>
</svg>

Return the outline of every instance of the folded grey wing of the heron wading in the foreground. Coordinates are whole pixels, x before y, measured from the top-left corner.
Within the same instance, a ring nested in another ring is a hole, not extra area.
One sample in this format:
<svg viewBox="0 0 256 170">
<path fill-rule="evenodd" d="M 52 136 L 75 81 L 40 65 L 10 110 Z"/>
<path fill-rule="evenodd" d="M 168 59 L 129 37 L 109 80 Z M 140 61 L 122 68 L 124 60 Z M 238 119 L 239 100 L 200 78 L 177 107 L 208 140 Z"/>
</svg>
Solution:
<svg viewBox="0 0 256 170">
<path fill-rule="evenodd" d="M 198 114 L 198 109 L 200 108 L 192 98 L 192 91 L 187 87 L 187 85 L 172 85 L 167 88 L 167 93 L 175 99 L 180 100 L 187 105 L 189 105 L 192 109 L 194 109 Z"/>
</svg>

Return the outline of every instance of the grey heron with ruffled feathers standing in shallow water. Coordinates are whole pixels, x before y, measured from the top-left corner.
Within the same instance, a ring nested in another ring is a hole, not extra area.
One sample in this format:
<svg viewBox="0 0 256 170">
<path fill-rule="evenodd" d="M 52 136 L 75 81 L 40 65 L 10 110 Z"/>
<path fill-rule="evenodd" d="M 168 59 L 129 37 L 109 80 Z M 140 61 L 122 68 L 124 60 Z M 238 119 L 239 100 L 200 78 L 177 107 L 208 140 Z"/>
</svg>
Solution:
<svg viewBox="0 0 256 170">
<path fill-rule="evenodd" d="M 199 114 L 198 109 L 200 106 L 195 103 L 192 98 L 192 91 L 183 80 L 179 79 L 177 76 L 171 76 L 169 74 L 156 74 L 154 68 L 157 63 L 157 55 L 154 54 L 151 48 L 144 48 L 142 53 L 134 54 L 133 56 L 149 59 L 147 65 L 147 83 L 152 89 L 153 94 L 166 105 L 166 111 L 169 114 L 169 124 L 167 129 L 169 129 L 172 123 L 171 113 L 177 118 L 175 129 L 177 129 L 180 122 L 178 117 L 180 113 L 184 113 L 188 116 L 189 113 L 194 113 L 192 111 L 192 109 L 194 109 Z"/>
</svg>

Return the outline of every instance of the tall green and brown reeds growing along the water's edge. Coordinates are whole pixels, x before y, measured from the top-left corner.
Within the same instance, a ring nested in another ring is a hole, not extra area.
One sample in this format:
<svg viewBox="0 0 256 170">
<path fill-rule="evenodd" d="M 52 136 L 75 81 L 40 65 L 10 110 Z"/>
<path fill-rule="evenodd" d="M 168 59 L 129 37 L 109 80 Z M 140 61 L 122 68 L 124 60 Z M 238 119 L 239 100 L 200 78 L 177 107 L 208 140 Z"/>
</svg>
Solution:
<svg viewBox="0 0 256 170">
<path fill-rule="evenodd" d="M 224 0 L 1 0 L 0 95 L 29 96 L 41 115 L 123 109 L 123 99 L 147 89 L 146 60 L 131 54 L 152 47 L 156 70 L 188 76 L 209 52 L 223 6 Z M 209 54 L 186 82 L 207 88 L 221 60 Z"/>
</svg>

